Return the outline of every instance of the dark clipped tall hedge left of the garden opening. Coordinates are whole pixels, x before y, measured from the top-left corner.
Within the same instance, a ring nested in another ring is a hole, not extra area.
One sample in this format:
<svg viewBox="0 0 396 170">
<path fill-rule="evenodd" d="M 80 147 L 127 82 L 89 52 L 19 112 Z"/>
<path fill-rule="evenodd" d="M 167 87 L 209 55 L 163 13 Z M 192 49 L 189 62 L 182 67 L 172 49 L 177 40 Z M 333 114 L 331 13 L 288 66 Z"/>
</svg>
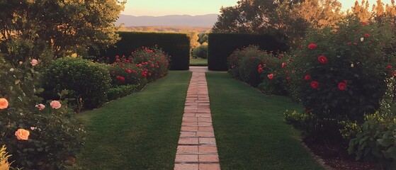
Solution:
<svg viewBox="0 0 396 170">
<path fill-rule="evenodd" d="M 99 57 L 109 57 L 114 61 L 115 55 L 129 56 L 132 51 L 141 47 L 162 48 L 171 55 L 172 70 L 188 70 L 190 63 L 190 39 L 183 33 L 137 33 L 119 32 L 121 40 L 115 47 L 103 50 Z"/>
</svg>

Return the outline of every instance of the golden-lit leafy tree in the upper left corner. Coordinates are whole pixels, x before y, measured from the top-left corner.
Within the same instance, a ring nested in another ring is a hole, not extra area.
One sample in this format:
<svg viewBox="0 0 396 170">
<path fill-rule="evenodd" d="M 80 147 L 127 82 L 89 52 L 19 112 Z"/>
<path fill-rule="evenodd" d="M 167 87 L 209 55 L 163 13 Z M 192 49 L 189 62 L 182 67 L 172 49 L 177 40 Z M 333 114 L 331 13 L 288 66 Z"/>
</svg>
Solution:
<svg viewBox="0 0 396 170">
<path fill-rule="evenodd" d="M 118 40 L 114 23 L 124 4 L 118 0 L 0 0 L 1 52 L 10 52 L 6 44 L 15 40 L 46 45 L 53 58 L 107 47 Z"/>
</svg>

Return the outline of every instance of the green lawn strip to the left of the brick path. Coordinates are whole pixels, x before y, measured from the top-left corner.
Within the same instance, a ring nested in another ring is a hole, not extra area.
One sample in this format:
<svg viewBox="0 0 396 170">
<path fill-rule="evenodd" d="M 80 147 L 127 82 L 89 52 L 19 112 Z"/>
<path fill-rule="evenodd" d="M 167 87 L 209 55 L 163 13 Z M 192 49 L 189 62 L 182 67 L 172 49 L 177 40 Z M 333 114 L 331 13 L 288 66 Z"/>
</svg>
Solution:
<svg viewBox="0 0 396 170">
<path fill-rule="evenodd" d="M 75 169 L 173 169 L 191 72 L 81 113 L 88 140 Z"/>
</svg>

